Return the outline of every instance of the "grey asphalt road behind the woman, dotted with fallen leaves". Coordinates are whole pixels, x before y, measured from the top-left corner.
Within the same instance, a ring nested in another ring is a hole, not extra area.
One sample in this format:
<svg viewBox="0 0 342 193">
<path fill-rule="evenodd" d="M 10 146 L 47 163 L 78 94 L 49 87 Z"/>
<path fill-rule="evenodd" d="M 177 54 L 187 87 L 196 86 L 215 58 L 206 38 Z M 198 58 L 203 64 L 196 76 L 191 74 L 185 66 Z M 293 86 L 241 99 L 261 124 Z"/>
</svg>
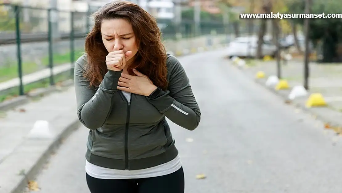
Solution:
<svg viewBox="0 0 342 193">
<path fill-rule="evenodd" d="M 180 58 L 199 102 L 200 126 L 171 123 L 186 193 L 340 193 L 340 138 L 228 65 L 222 51 Z M 38 176 L 41 193 L 88 193 L 87 129 L 64 142 Z M 192 138 L 193 141 L 187 140 Z M 197 174 L 205 179 L 196 179 Z"/>
</svg>

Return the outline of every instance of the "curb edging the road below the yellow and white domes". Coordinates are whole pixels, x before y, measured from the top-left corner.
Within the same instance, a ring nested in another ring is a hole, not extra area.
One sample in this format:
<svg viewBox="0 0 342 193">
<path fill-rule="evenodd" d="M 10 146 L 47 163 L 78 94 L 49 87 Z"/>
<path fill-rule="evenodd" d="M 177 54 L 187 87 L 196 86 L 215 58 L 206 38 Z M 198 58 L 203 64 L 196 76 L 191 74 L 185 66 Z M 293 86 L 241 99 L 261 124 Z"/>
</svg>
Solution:
<svg viewBox="0 0 342 193">
<path fill-rule="evenodd" d="M 301 109 L 303 112 L 310 114 L 315 119 L 319 119 L 320 121 L 323 121 L 325 123 L 329 123 L 330 125 L 333 125 L 334 127 L 342 128 L 342 113 L 341 112 L 339 112 L 337 110 L 333 110 L 329 107 L 307 108 L 305 106 L 305 102 L 307 100 L 307 97 L 310 96 L 310 94 L 311 94 L 310 92 L 308 92 L 308 95 L 306 97 L 299 97 L 297 99 L 295 98 L 293 100 L 290 100 L 288 98 L 288 95 L 290 94 L 290 91 L 292 89 L 291 86 L 289 86 L 288 89 L 277 91 L 274 88 L 270 88 L 270 87 L 265 86 L 267 76 L 265 76 L 265 78 L 262 78 L 262 79 L 255 79 L 255 78 L 251 77 L 249 74 L 247 74 L 243 68 L 237 67 L 236 65 L 231 64 L 231 63 L 229 63 L 229 65 L 235 67 L 240 72 L 244 73 L 244 75 L 246 75 L 247 77 L 254 80 L 255 83 L 261 85 L 263 88 L 266 88 L 268 91 L 271 91 L 276 96 L 279 96 L 281 99 L 284 99 L 284 102 Z M 339 133 L 337 133 L 337 134 L 339 134 Z"/>
</svg>

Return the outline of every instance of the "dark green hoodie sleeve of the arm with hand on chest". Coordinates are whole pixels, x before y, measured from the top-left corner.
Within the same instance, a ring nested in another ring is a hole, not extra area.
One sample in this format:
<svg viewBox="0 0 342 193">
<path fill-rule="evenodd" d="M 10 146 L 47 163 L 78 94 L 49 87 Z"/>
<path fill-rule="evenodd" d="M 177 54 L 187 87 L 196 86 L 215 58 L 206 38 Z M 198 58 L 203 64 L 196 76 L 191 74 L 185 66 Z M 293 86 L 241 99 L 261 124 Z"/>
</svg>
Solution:
<svg viewBox="0 0 342 193">
<path fill-rule="evenodd" d="M 168 56 L 167 65 L 170 73 L 168 90 L 157 90 L 152 98 L 146 98 L 172 122 L 185 129 L 194 130 L 200 122 L 201 112 L 189 79 L 174 56 Z"/>
</svg>

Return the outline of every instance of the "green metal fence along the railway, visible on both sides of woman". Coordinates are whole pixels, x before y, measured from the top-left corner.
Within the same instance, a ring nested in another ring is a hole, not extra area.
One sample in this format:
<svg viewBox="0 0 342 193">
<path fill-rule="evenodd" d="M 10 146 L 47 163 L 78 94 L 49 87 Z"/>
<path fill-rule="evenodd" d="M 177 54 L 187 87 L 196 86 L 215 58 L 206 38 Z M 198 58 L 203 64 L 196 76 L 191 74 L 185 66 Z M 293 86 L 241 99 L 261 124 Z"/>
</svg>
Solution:
<svg viewBox="0 0 342 193">
<path fill-rule="evenodd" d="M 72 79 L 74 62 L 83 54 L 84 38 L 92 26 L 90 14 L 0 4 L 0 102 Z M 158 24 L 166 47 L 173 52 L 179 47 L 225 44 L 225 34 L 233 33 L 222 22 Z M 216 38 L 220 35 L 221 39 Z"/>
</svg>

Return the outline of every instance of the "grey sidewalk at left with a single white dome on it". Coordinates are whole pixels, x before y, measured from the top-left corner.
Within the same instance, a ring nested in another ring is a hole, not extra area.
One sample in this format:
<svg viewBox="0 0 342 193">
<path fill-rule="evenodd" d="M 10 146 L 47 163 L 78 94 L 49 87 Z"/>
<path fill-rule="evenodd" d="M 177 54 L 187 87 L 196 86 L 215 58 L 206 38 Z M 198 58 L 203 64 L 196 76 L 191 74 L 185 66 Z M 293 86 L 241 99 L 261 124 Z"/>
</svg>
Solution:
<svg viewBox="0 0 342 193">
<path fill-rule="evenodd" d="M 59 141 L 78 128 L 75 104 L 74 87 L 70 87 L 0 114 L 0 193 L 22 193 L 27 180 L 20 173 L 32 180 Z M 51 137 L 28 135 L 38 120 L 50 123 Z"/>
</svg>

